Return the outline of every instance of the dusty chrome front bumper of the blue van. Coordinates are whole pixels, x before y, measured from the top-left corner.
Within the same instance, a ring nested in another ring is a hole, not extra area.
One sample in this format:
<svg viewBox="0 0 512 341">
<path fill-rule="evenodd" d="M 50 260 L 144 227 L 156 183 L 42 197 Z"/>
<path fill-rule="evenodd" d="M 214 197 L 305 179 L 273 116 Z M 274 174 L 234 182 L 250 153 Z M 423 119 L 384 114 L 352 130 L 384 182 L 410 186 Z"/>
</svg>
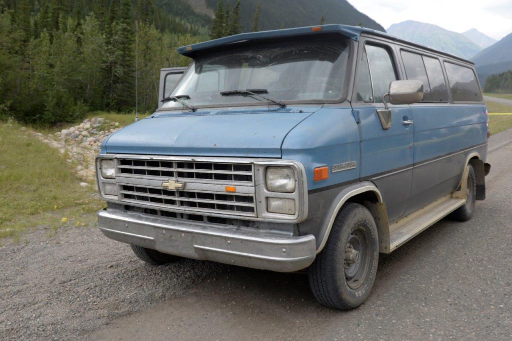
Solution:
<svg viewBox="0 0 512 341">
<path fill-rule="evenodd" d="M 272 271 L 304 269 L 316 255 L 313 235 L 240 231 L 113 209 L 98 212 L 98 226 L 106 237 L 162 253 Z"/>
</svg>

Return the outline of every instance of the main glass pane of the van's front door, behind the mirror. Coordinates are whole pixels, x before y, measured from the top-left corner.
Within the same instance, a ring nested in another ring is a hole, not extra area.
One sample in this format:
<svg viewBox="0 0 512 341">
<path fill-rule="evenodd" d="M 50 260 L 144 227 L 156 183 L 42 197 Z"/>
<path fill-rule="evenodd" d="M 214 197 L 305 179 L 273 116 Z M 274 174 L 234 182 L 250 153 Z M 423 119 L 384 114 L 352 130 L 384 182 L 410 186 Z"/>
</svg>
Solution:
<svg viewBox="0 0 512 341">
<path fill-rule="evenodd" d="M 389 84 L 396 80 L 395 68 L 389 52 L 382 47 L 366 45 L 368 64 L 375 103 L 382 103 L 382 95 L 389 91 Z"/>
</svg>

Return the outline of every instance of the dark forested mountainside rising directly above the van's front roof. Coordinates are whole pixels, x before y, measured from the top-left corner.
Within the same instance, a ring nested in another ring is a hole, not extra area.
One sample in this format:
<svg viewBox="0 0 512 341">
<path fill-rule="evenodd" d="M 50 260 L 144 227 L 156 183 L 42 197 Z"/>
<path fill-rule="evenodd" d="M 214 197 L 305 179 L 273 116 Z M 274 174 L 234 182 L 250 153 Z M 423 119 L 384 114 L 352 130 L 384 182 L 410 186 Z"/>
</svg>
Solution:
<svg viewBox="0 0 512 341">
<path fill-rule="evenodd" d="M 233 8 L 236 0 L 228 0 Z M 206 6 L 215 11 L 219 0 L 204 0 Z M 188 0 L 192 7 L 202 9 L 201 1 Z M 226 3 L 226 1 L 224 1 Z M 382 26 L 369 16 L 359 12 L 346 0 L 242 0 L 240 2 L 242 30 L 250 32 L 252 16 L 258 3 L 261 5 L 260 30 L 276 30 L 301 26 L 320 25 L 324 17 L 325 24 L 345 24 L 386 32 Z"/>
</svg>

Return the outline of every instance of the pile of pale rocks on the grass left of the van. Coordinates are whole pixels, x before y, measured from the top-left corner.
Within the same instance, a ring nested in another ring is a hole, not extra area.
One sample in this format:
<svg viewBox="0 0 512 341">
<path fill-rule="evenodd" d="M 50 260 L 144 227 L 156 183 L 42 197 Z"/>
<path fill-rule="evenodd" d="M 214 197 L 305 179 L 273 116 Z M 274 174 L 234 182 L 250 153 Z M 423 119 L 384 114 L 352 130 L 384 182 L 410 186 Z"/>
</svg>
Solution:
<svg viewBox="0 0 512 341">
<path fill-rule="evenodd" d="M 75 167 L 80 178 L 93 181 L 96 178 L 94 159 L 100 152 L 101 142 L 119 128 L 118 122 L 94 117 L 55 134 L 44 135 L 34 131 L 32 134 L 64 155 L 66 161 Z M 87 186 L 86 183 L 83 184 Z"/>
</svg>

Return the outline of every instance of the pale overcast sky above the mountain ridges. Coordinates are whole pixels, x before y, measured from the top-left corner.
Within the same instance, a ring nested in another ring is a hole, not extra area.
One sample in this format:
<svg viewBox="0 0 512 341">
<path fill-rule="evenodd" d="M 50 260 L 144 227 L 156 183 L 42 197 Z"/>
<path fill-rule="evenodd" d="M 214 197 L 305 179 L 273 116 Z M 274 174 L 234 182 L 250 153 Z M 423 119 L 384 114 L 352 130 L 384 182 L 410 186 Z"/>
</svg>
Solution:
<svg viewBox="0 0 512 341">
<path fill-rule="evenodd" d="M 512 33 L 512 0 L 348 0 L 385 29 L 415 20 L 462 33 L 472 28 L 500 40 Z"/>
</svg>

